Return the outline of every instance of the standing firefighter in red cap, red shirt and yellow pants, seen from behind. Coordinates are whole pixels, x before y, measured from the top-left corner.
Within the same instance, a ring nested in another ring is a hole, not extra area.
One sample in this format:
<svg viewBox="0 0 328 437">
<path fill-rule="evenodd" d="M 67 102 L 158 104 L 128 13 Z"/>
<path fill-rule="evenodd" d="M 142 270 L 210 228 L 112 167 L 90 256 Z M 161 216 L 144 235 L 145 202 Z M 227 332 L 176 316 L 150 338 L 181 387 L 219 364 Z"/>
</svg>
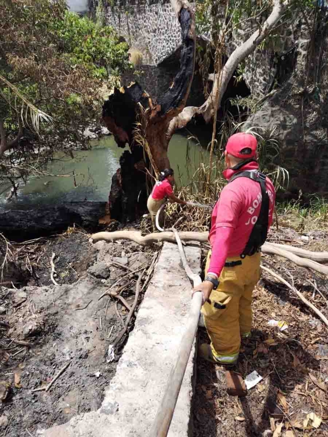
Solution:
<svg viewBox="0 0 328 437">
<path fill-rule="evenodd" d="M 234 366 L 242 338 L 251 335 L 253 289 L 260 278 L 260 248 L 272 223 L 275 190 L 259 172 L 257 140 L 232 135 L 226 145 L 228 180 L 211 220 L 201 313 L 211 344 L 201 344 L 203 359 Z"/>
</svg>

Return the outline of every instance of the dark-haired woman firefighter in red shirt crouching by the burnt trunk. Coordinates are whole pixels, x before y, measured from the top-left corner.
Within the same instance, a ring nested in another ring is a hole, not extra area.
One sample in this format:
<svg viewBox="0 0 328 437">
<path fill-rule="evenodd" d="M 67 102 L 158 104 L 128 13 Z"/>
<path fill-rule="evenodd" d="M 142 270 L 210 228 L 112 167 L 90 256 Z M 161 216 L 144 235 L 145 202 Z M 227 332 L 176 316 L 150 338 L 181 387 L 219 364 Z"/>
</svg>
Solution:
<svg viewBox="0 0 328 437">
<path fill-rule="evenodd" d="M 187 202 L 179 199 L 173 193 L 172 185 L 174 184 L 174 172 L 172 169 L 165 169 L 159 174 L 158 182 L 155 183 L 153 191 L 148 197 L 147 208 L 150 212 L 153 231 L 156 231 L 156 214 L 160 206 L 166 202 L 167 199 L 170 202 L 180 203 L 181 205 L 187 205 Z M 159 218 L 159 223 L 163 221 L 163 217 Z"/>
</svg>

